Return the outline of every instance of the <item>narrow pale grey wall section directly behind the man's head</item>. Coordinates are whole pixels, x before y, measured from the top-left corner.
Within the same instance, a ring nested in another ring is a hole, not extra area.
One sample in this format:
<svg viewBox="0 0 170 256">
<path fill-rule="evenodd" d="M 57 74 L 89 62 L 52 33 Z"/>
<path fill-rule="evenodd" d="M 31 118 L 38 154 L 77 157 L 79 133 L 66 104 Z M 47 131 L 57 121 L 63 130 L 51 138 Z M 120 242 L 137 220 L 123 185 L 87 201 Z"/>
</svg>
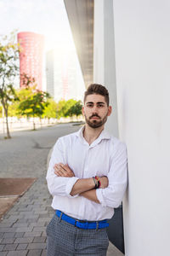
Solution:
<svg viewBox="0 0 170 256">
<path fill-rule="evenodd" d="M 94 1 L 94 83 L 104 84 L 110 92 L 113 112 L 105 125 L 118 137 L 115 46 L 112 0 Z"/>
</svg>

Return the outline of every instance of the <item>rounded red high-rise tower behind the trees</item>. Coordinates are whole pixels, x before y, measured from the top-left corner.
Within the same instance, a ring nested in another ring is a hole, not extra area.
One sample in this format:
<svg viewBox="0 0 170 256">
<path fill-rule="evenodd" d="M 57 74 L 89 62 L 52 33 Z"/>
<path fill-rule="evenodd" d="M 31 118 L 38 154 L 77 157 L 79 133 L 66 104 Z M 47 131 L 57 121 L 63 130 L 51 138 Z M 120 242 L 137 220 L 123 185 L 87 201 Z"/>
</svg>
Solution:
<svg viewBox="0 0 170 256">
<path fill-rule="evenodd" d="M 34 78 L 37 89 L 42 90 L 42 66 L 44 37 L 34 32 L 18 33 L 20 44 L 20 87 L 23 87 L 22 74 Z"/>
</svg>

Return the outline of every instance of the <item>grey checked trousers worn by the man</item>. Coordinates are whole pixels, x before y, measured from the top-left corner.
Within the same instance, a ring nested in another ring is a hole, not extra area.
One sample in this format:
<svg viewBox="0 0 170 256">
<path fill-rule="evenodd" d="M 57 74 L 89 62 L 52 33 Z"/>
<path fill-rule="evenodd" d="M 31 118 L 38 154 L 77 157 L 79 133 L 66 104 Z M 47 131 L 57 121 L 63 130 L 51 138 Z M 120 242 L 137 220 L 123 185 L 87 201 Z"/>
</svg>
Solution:
<svg viewBox="0 0 170 256">
<path fill-rule="evenodd" d="M 78 229 L 56 215 L 47 226 L 47 238 L 47 256 L 105 256 L 109 246 L 105 229 Z"/>
</svg>

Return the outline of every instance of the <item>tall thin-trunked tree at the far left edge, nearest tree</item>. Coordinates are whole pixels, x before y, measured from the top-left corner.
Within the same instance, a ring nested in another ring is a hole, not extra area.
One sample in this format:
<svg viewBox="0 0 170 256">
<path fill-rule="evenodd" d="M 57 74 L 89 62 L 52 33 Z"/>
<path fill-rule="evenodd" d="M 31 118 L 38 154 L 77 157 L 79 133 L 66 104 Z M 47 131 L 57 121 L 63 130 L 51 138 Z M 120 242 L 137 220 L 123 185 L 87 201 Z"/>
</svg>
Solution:
<svg viewBox="0 0 170 256">
<path fill-rule="evenodd" d="M 14 90 L 14 78 L 19 71 L 19 45 L 14 43 L 15 34 L 0 36 L 0 102 L 3 105 L 7 138 L 10 138 L 8 129 L 8 106 L 9 102 L 18 100 Z"/>
</svg>

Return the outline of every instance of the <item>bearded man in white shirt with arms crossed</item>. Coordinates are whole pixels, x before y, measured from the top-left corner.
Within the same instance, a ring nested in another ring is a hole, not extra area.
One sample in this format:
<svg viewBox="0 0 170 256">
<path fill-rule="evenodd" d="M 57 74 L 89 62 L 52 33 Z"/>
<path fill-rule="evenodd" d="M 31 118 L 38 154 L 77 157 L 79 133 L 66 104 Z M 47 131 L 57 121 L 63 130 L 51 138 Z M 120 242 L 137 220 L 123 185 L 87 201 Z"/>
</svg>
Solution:
<svg viewBox="0 0 170 256">
<path fill-rule="evenodd" d="M 86 124 L 58 139 L 48 167 L 56 210 L 47 227 L 48 256 L 106 255 L 107 220 L 127 187 L 126 146 L 104 129 L 111 106 L 103 85 L 88 87 L 82 114 Z"/>
</svg>

